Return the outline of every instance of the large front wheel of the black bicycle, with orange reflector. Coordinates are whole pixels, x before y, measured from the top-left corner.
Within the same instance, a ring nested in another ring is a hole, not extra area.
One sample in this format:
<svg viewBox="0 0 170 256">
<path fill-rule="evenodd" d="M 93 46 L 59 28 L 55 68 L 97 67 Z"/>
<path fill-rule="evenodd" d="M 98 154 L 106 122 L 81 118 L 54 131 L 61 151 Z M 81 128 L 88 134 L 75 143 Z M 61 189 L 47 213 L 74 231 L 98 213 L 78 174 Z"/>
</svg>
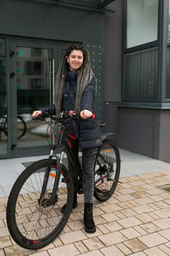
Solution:
<svg viewBox="0 0 170 256">
<path fill-rule="evenodd" d="M 42 200 L 39 195 L 42 181 L 45 181 L 45 170 L 49 170 L 47 190 Z M 72 178 L 64 165 L 56 193 L 55 205 L 47 206 L 56 171 L 54 159 L 42 159 L 26 167 L 20 174 L 7 201 L 7 227 L 14 241 L 26 249 L 39 249 L 50 244 L 63 230 L 73 203 Z M 61 212 L 66 203 L 66 211 Z"/>
</svg>

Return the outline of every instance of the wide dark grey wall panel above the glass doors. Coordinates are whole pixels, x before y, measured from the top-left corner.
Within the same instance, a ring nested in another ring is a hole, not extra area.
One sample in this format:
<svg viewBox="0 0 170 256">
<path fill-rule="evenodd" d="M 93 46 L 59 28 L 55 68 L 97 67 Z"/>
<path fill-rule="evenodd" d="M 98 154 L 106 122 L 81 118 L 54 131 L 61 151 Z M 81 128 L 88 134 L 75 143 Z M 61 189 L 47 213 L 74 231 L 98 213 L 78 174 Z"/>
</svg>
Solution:
<svg viewBox="0 0 170 256">
<path fill-rule="evenodd" d="M 103 12 L 88 12 L 34 1 L 2 0 L 0 33 L 104 45 Z"/>
</svg>

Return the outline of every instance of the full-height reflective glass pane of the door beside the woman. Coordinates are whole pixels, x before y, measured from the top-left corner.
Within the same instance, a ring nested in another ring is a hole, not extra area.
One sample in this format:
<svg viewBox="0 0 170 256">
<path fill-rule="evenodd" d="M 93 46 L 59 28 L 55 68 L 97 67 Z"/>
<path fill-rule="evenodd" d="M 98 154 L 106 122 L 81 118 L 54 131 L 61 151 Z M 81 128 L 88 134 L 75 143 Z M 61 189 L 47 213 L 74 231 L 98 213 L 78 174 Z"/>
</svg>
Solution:
<svg viewBox="0 0 170 256">
<path fill-rule="evenodd" d="M 18 100 L 18 147 L 46 146 L 47 127 L 31 121 L 31 113 L 50 105 L 50 59 L 52 49 L 18 47 L 16 56 L 16 88 Z"/>
</svg>

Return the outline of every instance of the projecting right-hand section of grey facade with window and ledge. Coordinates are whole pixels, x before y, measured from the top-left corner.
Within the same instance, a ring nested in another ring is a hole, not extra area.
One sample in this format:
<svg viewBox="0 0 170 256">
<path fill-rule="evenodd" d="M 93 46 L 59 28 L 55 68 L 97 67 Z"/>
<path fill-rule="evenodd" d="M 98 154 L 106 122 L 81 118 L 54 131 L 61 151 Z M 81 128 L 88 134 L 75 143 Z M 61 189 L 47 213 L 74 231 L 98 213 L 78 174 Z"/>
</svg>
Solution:
<svg viewBox="0 0 170 256">
<path fill-rule="evenodd" d="M 170 162 L 169 0 L 124 4 L 119 144 Z"/>
</svg>

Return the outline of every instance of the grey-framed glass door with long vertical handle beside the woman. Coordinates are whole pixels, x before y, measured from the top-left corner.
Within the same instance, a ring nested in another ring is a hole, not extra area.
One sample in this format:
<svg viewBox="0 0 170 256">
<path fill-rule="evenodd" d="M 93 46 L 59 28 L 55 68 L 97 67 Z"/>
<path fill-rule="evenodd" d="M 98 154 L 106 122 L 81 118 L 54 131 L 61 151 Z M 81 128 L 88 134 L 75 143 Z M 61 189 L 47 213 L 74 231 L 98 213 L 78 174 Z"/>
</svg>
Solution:
<svg viewBox="0 0 170 256">
<path fill-rule="evenodd" d="M 46 124 L 32 121 L 31 113 L 53 103 L 56 54 L 55 45 L 12 41 L 8 122 L 12 157 L 48 154 Z"/>
</svg>

